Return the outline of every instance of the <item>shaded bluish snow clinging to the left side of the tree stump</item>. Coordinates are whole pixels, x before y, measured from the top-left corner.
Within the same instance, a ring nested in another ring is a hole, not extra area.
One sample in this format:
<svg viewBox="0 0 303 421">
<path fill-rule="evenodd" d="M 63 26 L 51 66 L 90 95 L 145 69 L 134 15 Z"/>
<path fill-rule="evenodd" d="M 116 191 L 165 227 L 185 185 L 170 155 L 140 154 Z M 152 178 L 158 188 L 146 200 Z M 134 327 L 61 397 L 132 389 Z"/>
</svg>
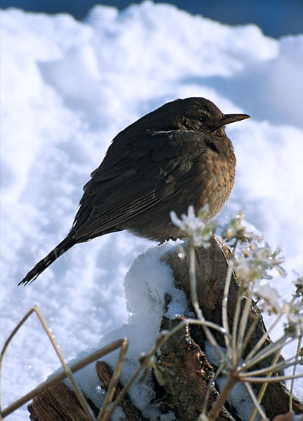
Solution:
<svg viewBox="0 0 303 421">
<path fill-rule="evenodd" d="M 174 319 L 178 314 L 186 314 L 186 316 L 191 314 L 186 304 L 185 293 L 174 287 L 172 269 L 160 260 L 168 250 L 178 250 L 180 243 L 181 241 L 167 241 L 161 246 L 152 246 L 134 260 L 124 279 L 129 318 L 126 323 L 106 333 L 98 342 L 98 347 L 105 347 L 118 338 L 131 338 L 127 359 L 120 377 L 124 384 L 136 370 L 138 356 L 153 348 L 155 338 L 160 331 L 165 308 L 165 294 L 168 293 L 172 299 L 165 314 L 167 317 Z M 94 350 L 90 349 L 89 352 Z M 74 361 L 83 358 L 84 355 L 85 353 L 80 354 Z M 115 366 L 117 352 L 112 352 L 102 359 Z M 98 387 L 100 382 L 98 382 L 94 364 L 80 370 L 75 377 L 79 380 L 84 393 L 90 396 L 96 405 L 101 406 L 103 394 L 100 393 Z M 157 420 L 158 413 L 155 413 L 153 405 L 150 404 L 150 401 L 155 398 L 152 385 L 148 379 L 147 384 L 143 382 L 140 387 L 133 385 L 129 393 L 134 404 L 143 410 L 146 416 L 149 415 L 151 420 Z M 118 420 L 119 417 L 115 419 Z"/>
</svg>

